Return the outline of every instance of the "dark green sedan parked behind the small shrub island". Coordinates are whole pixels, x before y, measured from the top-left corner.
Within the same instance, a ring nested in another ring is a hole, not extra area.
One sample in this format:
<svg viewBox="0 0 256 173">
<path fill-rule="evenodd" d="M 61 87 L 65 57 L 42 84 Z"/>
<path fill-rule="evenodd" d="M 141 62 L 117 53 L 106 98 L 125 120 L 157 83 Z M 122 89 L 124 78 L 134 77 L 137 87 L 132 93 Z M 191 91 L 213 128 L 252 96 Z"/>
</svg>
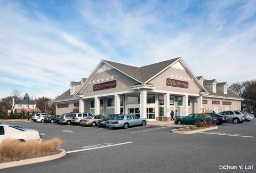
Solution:
<svg viewBox="0 0 256 173">
<path fill-rule="evenodd" d="M 203 118 L 201 116 L 201 114 L 199 113 L 193 113 L 193 114 L 189 114 L 187 117 L 185 118 L 178 118 L 174 121 L 174 123 L 177 123 L 178 125 L 183 125 L 183 124 L 195 124 L 195 122 L 197 120 L 201 120 L 203 121 Z M 212 121 L 212 125 L 217 125 L 217 123 L 219 122 L 218 118 L 216 117 L 211 117 L 208 116 L 206 118 L 206 121 Z"/>
</svg>

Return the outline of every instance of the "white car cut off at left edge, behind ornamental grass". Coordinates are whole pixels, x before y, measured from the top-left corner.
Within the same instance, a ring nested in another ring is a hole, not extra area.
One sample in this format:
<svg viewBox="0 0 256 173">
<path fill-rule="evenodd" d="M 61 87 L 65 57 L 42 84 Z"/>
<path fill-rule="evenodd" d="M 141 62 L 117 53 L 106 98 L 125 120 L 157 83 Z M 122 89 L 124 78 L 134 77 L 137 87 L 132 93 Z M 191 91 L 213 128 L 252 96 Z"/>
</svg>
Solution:
<svg viewBox="0 0 256 173">
<path fill-rule="evenodd" d="M 0 125 L 0 143 L 2 143 L 4 139 L 18 139 L 20 141 L 35 140 L 40 143 L 42 142 L 42 138 L 37 130 Z"/>
</svg>

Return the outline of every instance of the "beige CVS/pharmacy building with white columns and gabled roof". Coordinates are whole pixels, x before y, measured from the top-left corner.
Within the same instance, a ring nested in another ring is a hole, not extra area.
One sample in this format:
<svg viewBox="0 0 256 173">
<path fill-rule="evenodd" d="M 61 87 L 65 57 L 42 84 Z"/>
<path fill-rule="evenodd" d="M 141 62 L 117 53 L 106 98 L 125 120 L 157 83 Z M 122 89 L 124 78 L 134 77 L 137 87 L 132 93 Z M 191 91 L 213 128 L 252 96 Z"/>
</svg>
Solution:
<svg viewBox="0 0 256 173">
<path fill-rule="evenodd" d="M 196 77 L 182 57 L 140 68 L 101 60 L 89 78 L 71 81 L 69 86 L 54 100 L 56 114 L 131 113 L 166 121 L 171 110 L 185 117 L 202 108 L 215 112 L 240 110 L 243 101 L 227 89 L 226 82 Z"/>
</svg>

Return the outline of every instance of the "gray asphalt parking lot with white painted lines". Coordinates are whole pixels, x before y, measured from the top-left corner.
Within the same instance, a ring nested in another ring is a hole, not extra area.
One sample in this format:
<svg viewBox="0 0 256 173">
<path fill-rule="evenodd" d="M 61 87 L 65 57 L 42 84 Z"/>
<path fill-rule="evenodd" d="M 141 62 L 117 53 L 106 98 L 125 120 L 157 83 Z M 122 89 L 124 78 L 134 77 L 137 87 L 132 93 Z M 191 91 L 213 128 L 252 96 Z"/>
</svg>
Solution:
<svg viewBox="0 0 256 173">
<path fill-rule="evenodd" d="M 226 123 L 218 129 L 191 135 L 171 133 L 172 129 L 178 128 L 175 125 L 113 129 L 25 121 L 5 123 L 37 129 L 43 140 L 59 136 L 63 141 L 61 148 L 67 155 L 1 172 L 223 171 L 220 168 L 253 172 L 249 166 L 256 169 L 255 120 Z"/>
</svg>

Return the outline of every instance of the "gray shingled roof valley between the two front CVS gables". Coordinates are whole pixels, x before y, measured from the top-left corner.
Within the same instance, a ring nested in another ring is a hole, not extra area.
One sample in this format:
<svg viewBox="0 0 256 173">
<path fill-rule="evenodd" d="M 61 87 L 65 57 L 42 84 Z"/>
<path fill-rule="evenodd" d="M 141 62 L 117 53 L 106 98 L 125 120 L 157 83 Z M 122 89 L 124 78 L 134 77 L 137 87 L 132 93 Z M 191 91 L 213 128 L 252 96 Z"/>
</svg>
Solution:
<svg viewBox="0 0 256 173">
<path fill-rule="evenodd" d="M 119 64 L 116 62 L 106 61 L 106 60 L 103 60 L 103 61 L 105 61 L 108 64 L 112 65 L 113 67 L 123 71 L 127 75 L 141 81 L 142 83 L 145 83 L 148 79 L 152 78 L 157 73 L 159 73 L 160 71 L 162 71 L 163 69 L 165 69 L 167 66 L 169 66 L 170 64 L 172 64 L 173 62 L 175 62 L 178 59 L 179 59 L 179 57 L 172 59 L 172 60 L 158 62 L 158 63 L 151 64 L 151 65 L 146 65 L 146 66 L 143 66 L 140 68 L 133 67 L 130 65 Z"/>
</svg>

